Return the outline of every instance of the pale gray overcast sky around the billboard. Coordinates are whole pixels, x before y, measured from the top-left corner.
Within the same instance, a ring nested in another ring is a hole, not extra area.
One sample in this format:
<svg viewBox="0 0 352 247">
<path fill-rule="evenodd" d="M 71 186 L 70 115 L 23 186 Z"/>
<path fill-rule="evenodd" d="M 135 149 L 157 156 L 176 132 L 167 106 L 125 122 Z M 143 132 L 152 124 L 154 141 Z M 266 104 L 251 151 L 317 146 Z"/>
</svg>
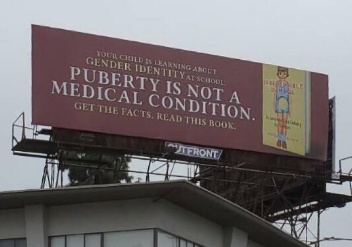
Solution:
<svg viewBox="0 0 352 247">
<path fill-rule="evenodd" d="M 336 158 L 352 155 L 352 1 L 2 1 L 0 191 L 39 188 L 44 160 L 13 156 L 11 126 L 31 116 L 31 24 L 279 64 L 329 75 Z M 352 160 L 343 165 L 352 167 Z M 347 184 L 346 184 L 347 185 Z M 347 186 L 329 186 L 347 193 Z M 322 216 L 322 236 L 352 238 L 352 204 Z M 347 246 L 330 241 L 321 246 Z"/>
</svg>

